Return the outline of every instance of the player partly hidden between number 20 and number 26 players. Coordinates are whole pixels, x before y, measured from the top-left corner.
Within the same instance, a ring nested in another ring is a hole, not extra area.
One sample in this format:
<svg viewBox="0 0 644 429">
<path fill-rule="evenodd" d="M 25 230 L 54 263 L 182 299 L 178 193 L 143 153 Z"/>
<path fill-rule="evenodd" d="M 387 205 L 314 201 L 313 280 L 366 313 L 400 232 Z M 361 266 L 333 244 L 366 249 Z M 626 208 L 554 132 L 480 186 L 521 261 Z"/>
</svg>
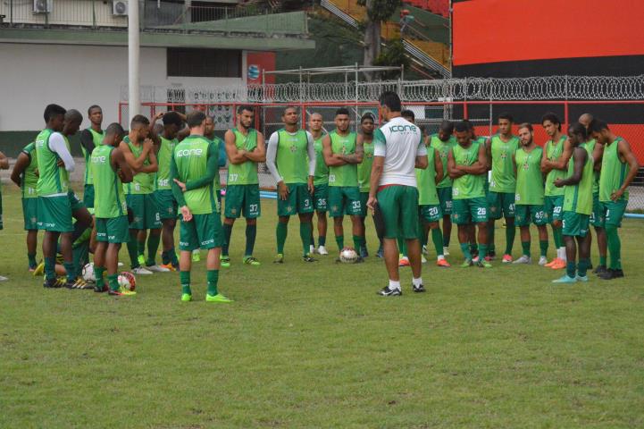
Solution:
<svg viewBox="0 0 644 429">
<path fill-rule="evenodd" d="M 449 121 L 440 122 L 439 132 L 430 136 L 430 147 L 439 151 L 443 172 L 447 172 L 447 154 L 449 149 L 456 146 L 454 124 Z M 452 235 L 452 178 L 444 174 L 443 179 L 436 185 L 439 193 L 440 211 L 443 214 L 443 255 L 449 256 L 449 240 Z"/>
</svg>

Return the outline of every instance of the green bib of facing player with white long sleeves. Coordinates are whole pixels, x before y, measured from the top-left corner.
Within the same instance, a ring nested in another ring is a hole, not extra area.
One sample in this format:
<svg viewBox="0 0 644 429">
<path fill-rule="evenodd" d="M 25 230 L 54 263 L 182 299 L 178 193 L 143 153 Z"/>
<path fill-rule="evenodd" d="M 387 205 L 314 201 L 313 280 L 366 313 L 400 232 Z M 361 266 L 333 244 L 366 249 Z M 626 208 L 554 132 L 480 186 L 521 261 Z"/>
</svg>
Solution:
<svg viewBox="0 0 644 429">
<path fill-rule="evenodd" d="M 308 182 L 308 136 L 305 130 L 291 134 L 277 131 L 277 156 L 275 164 L 284 183 Z"/>
</svg>

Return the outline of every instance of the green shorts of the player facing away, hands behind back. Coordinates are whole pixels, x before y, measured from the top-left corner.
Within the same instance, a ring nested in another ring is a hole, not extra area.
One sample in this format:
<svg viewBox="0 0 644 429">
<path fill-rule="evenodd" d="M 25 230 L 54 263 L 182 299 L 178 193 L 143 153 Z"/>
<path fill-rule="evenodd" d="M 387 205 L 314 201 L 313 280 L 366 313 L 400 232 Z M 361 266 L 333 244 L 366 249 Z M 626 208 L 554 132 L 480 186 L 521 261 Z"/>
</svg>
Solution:
<svg viewBox="0 0 644 429">
<path fill-rule="evenodd" d="M 223 243 L 222 217 L 219 213 L 193 214 L 190 222 L 180 220 L 179 249 L 221 248 Z"/>
</svg>

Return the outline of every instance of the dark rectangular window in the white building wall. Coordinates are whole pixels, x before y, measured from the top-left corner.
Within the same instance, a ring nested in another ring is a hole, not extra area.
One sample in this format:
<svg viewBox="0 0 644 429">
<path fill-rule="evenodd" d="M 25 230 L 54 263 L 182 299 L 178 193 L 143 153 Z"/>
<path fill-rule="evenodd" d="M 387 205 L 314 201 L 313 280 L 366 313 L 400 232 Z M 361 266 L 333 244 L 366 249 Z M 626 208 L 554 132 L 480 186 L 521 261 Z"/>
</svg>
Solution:
<svg viewBox="0 0 644 429">
<path fill-rule="evenodd" d="M 168 76 L 241 78 L 241 51 L 169 47 Z"/>
</svg>

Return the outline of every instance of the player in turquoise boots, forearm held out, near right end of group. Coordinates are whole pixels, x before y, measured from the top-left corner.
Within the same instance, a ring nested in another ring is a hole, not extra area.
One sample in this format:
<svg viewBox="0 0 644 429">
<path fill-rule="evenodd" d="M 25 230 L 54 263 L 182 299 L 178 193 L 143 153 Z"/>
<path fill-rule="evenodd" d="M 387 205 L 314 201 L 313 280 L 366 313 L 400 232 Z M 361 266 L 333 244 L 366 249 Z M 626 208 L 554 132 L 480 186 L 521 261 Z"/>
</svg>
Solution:
<svg viewBox="0 0 644 429">
<path fill-rule="evenodd" d="M 594 163 L 588 151 L 581 147 L 587 140 L 586 128 L 573 123 L 568 128 L 568 142 L 573 147 L 573 156 L 568 162 L 567 177 L 556 179 L 555 186 L 564 188 L 563 234 L 565 240 L 566 266 L 563 277 L 553 283 L 588 282 L 586 271 L 590 265 L 590 214 L 592 213 L 592 180 Z M 575 265 L 579 245 L 579 264 Z"/>
</svg>

